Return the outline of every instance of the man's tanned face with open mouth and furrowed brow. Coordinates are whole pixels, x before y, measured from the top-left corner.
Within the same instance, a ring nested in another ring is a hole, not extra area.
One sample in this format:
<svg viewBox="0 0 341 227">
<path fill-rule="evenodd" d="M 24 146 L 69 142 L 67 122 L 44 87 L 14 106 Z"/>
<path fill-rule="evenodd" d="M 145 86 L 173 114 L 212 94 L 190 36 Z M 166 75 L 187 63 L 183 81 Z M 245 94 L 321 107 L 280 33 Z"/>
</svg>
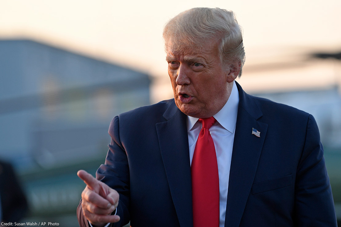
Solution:
<svg viewBox="0 0 341 227">
<path fill-rule="evenodd" d="M 186 115 L 211 117 L 225 105 L 232 90 L 230 70 L 224 68 L 217 45 L 203 42 L 200 48 L 174 50 L 168 43 L 168 75 L 172 82 L 175 103 Z M 178 48 L 179 49 L 179 48 Z"/>
</svg>

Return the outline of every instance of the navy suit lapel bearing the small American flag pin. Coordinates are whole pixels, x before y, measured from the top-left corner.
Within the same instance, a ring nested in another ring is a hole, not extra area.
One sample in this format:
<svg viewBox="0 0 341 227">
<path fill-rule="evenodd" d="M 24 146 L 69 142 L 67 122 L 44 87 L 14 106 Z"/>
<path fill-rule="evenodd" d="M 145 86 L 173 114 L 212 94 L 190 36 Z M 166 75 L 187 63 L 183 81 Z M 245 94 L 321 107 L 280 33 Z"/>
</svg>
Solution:
<svg viewBox="0 0 341 227">
<path fill-rule="evenodd" d="M 239 226 L 261 155 L 267 124 L 257 121 L 261 110 L 253 98 L 239 90 L 239 107 L 228 182 L 225 226 Z M 261 132 L 252 134 L 252 128 Z"/>
</svg>

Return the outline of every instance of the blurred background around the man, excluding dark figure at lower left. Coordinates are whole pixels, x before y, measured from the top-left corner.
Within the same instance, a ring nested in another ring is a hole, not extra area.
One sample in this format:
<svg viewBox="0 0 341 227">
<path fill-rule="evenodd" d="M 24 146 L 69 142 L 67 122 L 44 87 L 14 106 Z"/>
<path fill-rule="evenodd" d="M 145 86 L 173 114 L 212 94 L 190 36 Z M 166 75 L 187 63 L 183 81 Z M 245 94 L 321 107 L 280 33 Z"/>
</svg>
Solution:
<svg viewBox="0 0 341 227">
<path fill-rule="evenodd" d="M 115 115 L 173 97 L 162 30 L 192 7 L 235 12 L 246 92 L 314 115 L 340 223 L 339 0 L 0 0 L 0 159 L 26 195 L 23 221 L 78 226 L 77 170 L 104 162 Z"/>
</svg>

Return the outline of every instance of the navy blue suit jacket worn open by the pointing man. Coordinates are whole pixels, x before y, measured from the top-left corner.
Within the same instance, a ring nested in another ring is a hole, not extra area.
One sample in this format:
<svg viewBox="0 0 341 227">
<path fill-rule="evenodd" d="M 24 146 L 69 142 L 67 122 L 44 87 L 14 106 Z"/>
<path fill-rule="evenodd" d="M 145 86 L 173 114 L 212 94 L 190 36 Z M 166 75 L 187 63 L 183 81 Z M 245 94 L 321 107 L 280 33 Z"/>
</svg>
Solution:
<svg viewBox="0 0 341 227">
<path fill-rule="evenodd" d="M 314 118 L 237 87 L 225 226 L 336 226 Z M 96 176 L 120 194 L 121 221 L 113 226 L 131 220 L 132 227 L 192 227 L 186 115 L 174 99 L 116 116 L 109 134 L 110 149 Z M 77 216 L 87 226 L 81 206 Z"/>
</svg>

